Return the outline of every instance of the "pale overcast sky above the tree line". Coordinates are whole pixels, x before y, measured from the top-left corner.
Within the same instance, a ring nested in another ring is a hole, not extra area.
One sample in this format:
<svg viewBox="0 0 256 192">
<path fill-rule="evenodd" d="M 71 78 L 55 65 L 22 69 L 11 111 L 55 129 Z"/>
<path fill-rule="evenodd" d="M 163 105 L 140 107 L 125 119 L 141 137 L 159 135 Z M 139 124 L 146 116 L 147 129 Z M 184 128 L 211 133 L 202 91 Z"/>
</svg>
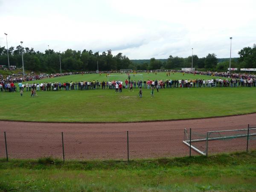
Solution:
<svg viewBox="0 0 256 192">
<path fill-rule="evenodd" d="M 256 44 L 255 0 L 0 0 L 0 46 L 229 58 Z"/>
</svg>

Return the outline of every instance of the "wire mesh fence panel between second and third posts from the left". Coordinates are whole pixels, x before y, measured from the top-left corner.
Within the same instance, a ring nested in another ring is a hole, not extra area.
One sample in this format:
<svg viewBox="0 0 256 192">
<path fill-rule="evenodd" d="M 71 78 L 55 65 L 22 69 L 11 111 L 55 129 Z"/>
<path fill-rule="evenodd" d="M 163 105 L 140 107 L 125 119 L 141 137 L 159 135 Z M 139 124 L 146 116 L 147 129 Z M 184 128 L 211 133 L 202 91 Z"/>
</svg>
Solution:
<svg viewBox="0 0 256 192">
<path fill-rule="evenodd" d="M 127 160 L 126 132 L 63 133 L 63 135 L 67 160 Z"/>
</svg>

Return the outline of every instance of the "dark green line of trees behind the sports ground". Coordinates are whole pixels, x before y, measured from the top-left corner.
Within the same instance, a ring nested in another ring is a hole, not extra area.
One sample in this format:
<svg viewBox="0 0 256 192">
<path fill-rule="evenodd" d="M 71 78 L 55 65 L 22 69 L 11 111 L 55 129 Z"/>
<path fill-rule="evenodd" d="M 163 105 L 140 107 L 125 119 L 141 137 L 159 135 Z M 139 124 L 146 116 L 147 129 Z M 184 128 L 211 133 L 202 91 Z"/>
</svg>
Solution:
<svg viewBox="0 0 256 192">
<path fill-rule="evenodd" d="M 113 55 L 111 49 L 106 52 L 93 52 L 92 50 L 76 51 L 67 49 L 64 52 L 55 52 L 47 49 L 45 52 L 35 52 L 33 48 L 22 48 L 20 45 L 10 47 L 10 65 L 22 67 L 21 52 L 23 53 L 24 68 L 36 72 L 58 73 L 60 68 L 63 72 L 70 71 L 100 71 L 133 69 L 133 70 L 155 70 L 155 69 L 181 69 L 191 67 L 192 56 L 187 58 L 169 56 L 165 61 L 151 58 L 147 62 L 135 63 L 122 53 Z M 232 59 L 232 68 L 256 68 L 256 44 L 253 47 L 244 47 L 238 52 L 239 59 Z M 0 46 L 0 65 L 8 67 L 7 49 Z M 193 55 L 193 67 L 201 70 L 225 71 L 229 67 L 229 60 L 218 62 L 217 55 L 209 53 L 206 57 L 198 58 Z"/>
</svg>

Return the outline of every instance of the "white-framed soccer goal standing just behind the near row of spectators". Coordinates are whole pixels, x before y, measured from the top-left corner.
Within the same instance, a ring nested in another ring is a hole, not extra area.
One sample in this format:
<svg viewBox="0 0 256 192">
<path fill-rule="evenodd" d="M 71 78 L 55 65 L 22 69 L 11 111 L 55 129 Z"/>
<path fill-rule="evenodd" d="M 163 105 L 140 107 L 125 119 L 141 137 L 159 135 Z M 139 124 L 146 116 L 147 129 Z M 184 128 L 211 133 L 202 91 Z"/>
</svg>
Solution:
<svg viewBox="0 0 256 192">
<path fill-rule="evenodd" d="M 130 82 L 135 82 L 136 87 L 138 85 L 138 82 L 142 82 L 140 84 L 140 87 L 144 87 L 143 85 L 143 74 L 130 74 L 130 75 L 108 75 L 107 76 L 108 81 L 122 81 L 123 84 L 125 85 L 125 81 L 130 81 Z"/>
</svg>

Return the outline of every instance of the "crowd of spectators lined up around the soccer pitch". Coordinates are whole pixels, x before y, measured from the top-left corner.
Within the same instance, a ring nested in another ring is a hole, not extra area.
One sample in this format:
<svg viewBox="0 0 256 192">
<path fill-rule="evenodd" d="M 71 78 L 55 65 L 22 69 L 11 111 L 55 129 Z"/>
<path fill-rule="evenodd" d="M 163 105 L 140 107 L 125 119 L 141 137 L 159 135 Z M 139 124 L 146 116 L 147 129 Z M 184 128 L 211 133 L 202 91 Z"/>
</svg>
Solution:
<svg viewBox="0 0 256 192">
<path fill-rule="evenodd" d="M 105 71 L 99 74 L 110 74 L 116 73 L 117 71 Z M 119 72 L 119 71 L 118 71 Z M 6 76 L 0 76 L 0 91 L 1 92 L 16 92 L 17 87 L 15 83 L 18 83 L 18 88 L 26 91 L 31 91 L 32 89 L 41 91 L 57 91 L 57 90 L 90 90 L 90 89 L 116 89 L 116 85 L 120 88 L 130 88 L 132 87 L 143 87 L 150 89 L 151 87 L 162 89 L 162 88 L 193 88 L 193 87 L 256 87 L 256 77 L 255 75 L 245 74 L 245 73 L 224 73 L 224 72 L 201 72 L 201 71 L 177 71 L 177 70 L 164 70 L 166 72 L 166 80 L 147 80 L 147 81 L 136 81 L 130 80 L 130 78 L 125 81 L 113 80 L 113 81 L 79 81 L 79 82 L 47 82 L 44 83 L 23 83 L 24 81 L 37 81 L 43 78 L 55 78 L 59 76 L 68 76 L 74 74 L 92 74 L 95 72 L 73 72 L 73 73 L 56 73 L 56 74 L 46 74 L 40 73 L 36 75 L 35 73 L 29 73 L 23 76 L 21 72 L 17 74 L 12 74 Z M 204 75 L 209 76 L 207 79 L 170 79 L 171 73 L 191 73 L 194 75 Z M 142 73 L 137 71 L 137 73 Z M 143 71 L 143 73 L 156 73 L 157 71 Z M 128 76 L 130 77 L 130 76 Z M 230 79 L 231 78 L 231 79 Z"/>
</svg>

